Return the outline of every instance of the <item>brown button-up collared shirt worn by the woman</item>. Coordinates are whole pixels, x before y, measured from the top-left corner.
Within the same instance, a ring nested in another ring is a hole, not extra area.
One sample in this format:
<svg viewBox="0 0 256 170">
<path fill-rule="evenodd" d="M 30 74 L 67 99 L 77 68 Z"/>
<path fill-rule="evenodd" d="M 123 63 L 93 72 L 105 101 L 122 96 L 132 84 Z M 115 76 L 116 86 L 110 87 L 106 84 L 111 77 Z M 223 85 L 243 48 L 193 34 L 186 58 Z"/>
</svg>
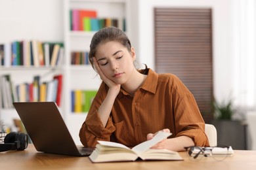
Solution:
<svg viewBox="0 0 256 170">
<path fill-rule="evenodd" d="M 102 82 L 79 132 L 84 146 L 95 147 L 100 140 L 133 147 L 146 141 L 148 133 L 165 128 L 171 130 L 171 137 L 185 135 L 197 146 L 209 146 L 205 123 L 194 96 L 177 76 L 158 75 L 149 69 L 144 84 L 133 97 L 120 90 L 104 127 L 98 108 L 107 93 L 108 86 Z"/>
</svg>

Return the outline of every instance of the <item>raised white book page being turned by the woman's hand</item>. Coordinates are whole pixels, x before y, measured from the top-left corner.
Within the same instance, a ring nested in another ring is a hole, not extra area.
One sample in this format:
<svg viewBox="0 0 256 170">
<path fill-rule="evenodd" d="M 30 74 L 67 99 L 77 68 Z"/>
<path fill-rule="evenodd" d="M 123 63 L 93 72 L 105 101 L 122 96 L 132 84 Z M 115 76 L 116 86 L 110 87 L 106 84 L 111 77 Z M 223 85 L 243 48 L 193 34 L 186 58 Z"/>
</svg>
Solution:
<svg viewBox="0 0 256 170">
<path fill-rule="evenodd" d="M 138 144 L 137 146 L 133 147 L 132 150 L 137 154 L 140 155 L 142 152 L 146 151 L 147 149 L 151 148 L 155 144 L 159 143 L 163 139 L 169 137 L 172 133 L 158 131 L 158 133 L 149 141 L 144 141 L 143 143 Z"/>
</svg>

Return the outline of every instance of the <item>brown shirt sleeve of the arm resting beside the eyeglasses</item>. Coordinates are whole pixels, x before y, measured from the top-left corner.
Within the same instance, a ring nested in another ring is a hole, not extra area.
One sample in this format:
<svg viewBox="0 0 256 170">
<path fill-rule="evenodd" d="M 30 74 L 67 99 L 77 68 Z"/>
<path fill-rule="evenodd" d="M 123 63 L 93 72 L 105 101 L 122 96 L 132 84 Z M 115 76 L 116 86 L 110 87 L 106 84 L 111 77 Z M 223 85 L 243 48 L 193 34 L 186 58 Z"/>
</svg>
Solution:
<svg viewBox="0 0 256 170">
<path fill-rule="evenodd" d="M 173 116 L 175 121 L 176 137 L 190 137 L 196 146 L 209 146 L 209 141 L 205 134 L 205 122 L 198 109 L 194 95 L 177 78 L 173 79 Z"/>
</svg>

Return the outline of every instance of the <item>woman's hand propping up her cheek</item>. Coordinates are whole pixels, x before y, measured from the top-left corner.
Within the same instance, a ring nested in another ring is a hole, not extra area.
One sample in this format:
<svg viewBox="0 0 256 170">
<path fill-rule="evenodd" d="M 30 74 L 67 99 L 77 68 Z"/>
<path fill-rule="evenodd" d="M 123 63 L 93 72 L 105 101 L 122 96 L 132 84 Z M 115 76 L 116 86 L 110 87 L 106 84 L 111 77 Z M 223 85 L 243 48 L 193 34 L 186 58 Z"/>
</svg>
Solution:
<svg viewBox="0 0 256 170">
<path fill-rule="evenodd" d="M 96 58 L 93 58 L 93 65 L 98 73 L 98 75 L 100 75 L 100 79 L 102 81 L 104 81 L 108 87 L 110 88 L 110 90 L 114 90 L 117 93 L 119 93 L 119 90 L 121 88 L 120 84 L 116 84 L 116 82 L 113 82 L 112 80 L 110 80 L 106 75 L 104 75 L 104 73 L 102 72 L 102 70 L 100 69 L 100 65 L 98 65 L 98 62 L 96 61 Z"/>
</svg>

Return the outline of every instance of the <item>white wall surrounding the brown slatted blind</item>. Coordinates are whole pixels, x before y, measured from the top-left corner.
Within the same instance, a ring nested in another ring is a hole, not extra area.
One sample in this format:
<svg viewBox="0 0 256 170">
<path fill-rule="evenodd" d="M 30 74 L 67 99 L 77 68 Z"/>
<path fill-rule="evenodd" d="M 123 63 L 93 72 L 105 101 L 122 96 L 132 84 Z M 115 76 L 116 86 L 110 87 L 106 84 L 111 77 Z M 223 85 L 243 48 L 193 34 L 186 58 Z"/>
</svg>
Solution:
<svg viewBox="0 0 256 170">
<path fill-rule="evenodd" d="M 154 65 L 154 7 L 211 8 L 213 10 L 213 93 L 222 101 L 232 92 L 232 0 L 139 0 L 137 58 Z"/>
</svg>

